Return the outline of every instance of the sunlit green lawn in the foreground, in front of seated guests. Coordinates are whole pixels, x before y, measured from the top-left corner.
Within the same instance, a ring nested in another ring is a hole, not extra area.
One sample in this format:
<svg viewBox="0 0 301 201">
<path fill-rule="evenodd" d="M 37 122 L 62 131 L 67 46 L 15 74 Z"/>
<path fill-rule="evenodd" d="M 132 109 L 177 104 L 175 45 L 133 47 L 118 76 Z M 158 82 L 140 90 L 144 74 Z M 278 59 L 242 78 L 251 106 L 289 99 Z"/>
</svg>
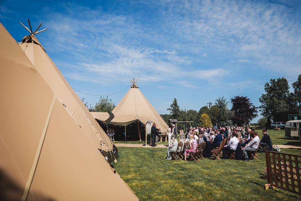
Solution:
<svg viewBox="0 0 301 201">
<path fill-rule="evenodd" d="M 205 159 L 197 163 L 166 161 L 163 148 L 118 149 L 120 157 L 115 169 L 140 200 L 301 199 L 278 188 L 264 189 L 267 183 L 261 178 L 266 167 L 264 154 L 259 154 L 259 161 Z M 301 149 L 281 149 L 281 152 L 301 155 Z"/>
</svg>

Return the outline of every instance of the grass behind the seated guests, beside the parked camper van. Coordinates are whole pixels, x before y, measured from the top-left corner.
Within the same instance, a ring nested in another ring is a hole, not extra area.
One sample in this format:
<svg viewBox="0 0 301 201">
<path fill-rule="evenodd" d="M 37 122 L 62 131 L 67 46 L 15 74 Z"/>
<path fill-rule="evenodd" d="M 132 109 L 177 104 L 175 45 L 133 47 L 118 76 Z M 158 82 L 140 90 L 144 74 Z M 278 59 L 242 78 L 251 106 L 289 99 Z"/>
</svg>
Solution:
<svg viewBox="0 0 301 201">
<path fill-rule="evenodd" d="M 255 129 L 258 132 L 258 136 L 261 139 L 262 137 L 262 129 Z M 267 133 L 270 135 L 273 145 L 275 144 L 285 144 L 285 145 L 293 145 L 293 146 L 301 146 L 300 140 L 291 140 L 289 138 L 284 138 L 284 130 L 267 130 Z"/>
</svg>

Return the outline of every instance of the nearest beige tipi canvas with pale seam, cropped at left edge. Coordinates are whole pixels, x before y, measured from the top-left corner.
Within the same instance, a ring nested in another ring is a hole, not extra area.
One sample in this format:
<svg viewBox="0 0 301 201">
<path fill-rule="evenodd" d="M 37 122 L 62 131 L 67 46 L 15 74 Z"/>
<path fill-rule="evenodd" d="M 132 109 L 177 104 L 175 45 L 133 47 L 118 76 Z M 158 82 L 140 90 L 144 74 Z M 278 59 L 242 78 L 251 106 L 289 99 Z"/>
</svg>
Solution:
<svg viewBox="0 0 301 201">
<path fill-rule="evenodd" d="M 0 33 L 0 199 L 138 200 L 1 23 Z"/>
</svg>

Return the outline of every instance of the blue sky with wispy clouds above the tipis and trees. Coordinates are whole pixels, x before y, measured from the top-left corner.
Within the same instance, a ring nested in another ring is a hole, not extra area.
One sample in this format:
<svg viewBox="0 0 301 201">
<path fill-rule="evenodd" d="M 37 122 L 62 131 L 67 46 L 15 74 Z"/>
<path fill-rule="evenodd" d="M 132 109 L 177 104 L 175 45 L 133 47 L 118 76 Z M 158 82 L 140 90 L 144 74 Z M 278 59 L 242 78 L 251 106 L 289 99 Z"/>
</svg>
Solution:
<svg viewBox="0 0 301 201">
<path fill-rule="evenodd" d="M 300 12 L 299 1 L 0 1 L 16 40 L 28 34 L 19 21 L 43 22 L 37 38 L 72 87 L 111 94 L 140 78 L 161 114 L 173 98 L 197 111 L 223 95 L 259 106 L 271 78 L 294 82 Z M 109 97 L 117 104 L 125 93 Z M 92 105 L 99 98 L 78 95 Z"/>
</svg>

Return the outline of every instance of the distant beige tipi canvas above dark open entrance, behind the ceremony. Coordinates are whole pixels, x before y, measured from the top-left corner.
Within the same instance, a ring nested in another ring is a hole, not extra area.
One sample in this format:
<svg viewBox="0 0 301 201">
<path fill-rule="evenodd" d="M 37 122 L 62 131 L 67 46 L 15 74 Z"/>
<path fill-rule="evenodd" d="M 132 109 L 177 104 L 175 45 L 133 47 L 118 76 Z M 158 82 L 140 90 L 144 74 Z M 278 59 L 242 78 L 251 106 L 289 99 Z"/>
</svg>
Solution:
<svg viewBox="0 0 301 201">
<path fill-rule="evenodd" d="M 131 85 L 129 91 L 113 109 L 112 113 L 114 114 L 114 118 L 109 123 L 120 126 L 128 126 L 129 124 L 138 120 L 145 126 L 146 121 L 152 120 L 156 122 L 157 128 L 160 128 L 161 132 L 166 132 L 168 128 L 166 122 L 141 93 L 136 82 L 135 80 L 132 81 L 133 84 Z M 94 118 L 103 122 L 108 118 L 108 115 L 103 112 L 91 113 Z"/>
</svg>

